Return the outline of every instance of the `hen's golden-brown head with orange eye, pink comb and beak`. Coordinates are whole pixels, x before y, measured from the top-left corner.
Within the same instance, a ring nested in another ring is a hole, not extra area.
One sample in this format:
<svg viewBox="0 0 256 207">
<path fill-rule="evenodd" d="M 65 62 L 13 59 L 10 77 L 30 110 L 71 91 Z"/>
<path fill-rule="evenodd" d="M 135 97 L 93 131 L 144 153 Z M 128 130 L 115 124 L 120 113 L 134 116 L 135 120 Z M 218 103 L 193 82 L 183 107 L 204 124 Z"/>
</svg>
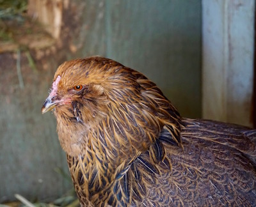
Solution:
<svg viewBox="0 0 256 207">
<path fill-rule="evenodd" d="M 113 86 L 118 89 L 125 87 L 124 82 L 129 82 L 121 78 L 125 70 L 120 63 L 103 57 L 63 63 L 54 75 L 42 113 L 54 109 L 54 112 L 61 111 L 67 118 L 75 118 L 78 122 L 93 122 L 97 115 L 106 113 L 108 94 Z"/>
</svg>

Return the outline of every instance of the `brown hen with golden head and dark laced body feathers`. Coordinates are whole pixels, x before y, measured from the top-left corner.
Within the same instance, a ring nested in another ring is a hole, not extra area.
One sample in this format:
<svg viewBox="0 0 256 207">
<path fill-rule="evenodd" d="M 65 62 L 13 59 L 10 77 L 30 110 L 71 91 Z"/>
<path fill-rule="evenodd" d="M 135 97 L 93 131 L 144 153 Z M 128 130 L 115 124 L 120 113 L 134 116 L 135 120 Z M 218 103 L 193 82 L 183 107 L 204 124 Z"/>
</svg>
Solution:
<svg viewBox="0 0 256 207">
<path fill-rule="evenodd" d="M 256 130 L 180 118 L 140 72 L 67 61 L 52 109 L 81 206 L 256 206 Z"/>
</svg>

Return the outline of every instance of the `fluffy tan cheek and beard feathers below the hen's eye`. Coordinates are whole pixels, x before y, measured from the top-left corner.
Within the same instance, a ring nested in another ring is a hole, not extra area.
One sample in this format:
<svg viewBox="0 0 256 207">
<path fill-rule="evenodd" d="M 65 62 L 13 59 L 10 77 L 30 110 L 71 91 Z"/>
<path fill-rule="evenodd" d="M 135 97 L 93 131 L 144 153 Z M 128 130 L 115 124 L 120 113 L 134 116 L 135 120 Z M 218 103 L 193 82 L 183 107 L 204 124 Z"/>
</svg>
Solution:
<svg viewBox="0 0 256 207">
<path fill-rule="evenodd" d="M 94 94 L 97 100 L 89 95 Z M 54 111 L 57 119 L 57 132 L 61 147 L 70 156 L 77 156 L 86 151 L 93 130 L 100 121 L 106 119 L 108 98 L 99 88 L 90 91 L 87 98 L 74 100 L 71 104 L 61 105 Z M 72 111 L 70 110 L 72 109 Z"/>
</svg>

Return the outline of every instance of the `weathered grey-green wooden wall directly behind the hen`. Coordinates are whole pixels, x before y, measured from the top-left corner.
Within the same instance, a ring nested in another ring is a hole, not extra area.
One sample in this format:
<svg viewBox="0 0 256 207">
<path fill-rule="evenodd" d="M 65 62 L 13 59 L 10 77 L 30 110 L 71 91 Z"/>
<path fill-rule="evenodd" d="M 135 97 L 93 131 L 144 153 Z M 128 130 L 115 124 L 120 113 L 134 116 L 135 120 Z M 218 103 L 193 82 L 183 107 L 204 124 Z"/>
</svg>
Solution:
<svg viewBox="0 0 256 207">
<path fill-rule="evenodd" d="M 200 117 L 200 0 L 63 2 L 55 47 L 31 53 L 38 72 L 22 54 L 24 89 L 16 56 L 0 56 L 0 203 L 15 193 L 54 199 L 72 188 L 54 171 L 57 166 L 67 172 L 55 119 L 40 114 L 53 73 L 64 60 L 116 59 L 154 80 L 183 116 Z"/>
</svg>

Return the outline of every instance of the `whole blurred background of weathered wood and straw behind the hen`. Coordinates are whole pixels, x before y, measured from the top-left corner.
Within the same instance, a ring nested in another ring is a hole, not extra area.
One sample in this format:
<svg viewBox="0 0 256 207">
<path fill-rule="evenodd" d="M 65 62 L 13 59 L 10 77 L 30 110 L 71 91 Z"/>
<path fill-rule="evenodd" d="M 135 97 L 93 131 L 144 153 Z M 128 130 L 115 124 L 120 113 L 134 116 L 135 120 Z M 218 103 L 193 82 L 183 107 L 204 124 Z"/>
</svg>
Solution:
<svg viewBox="0 0 256 207">
<path fill-rule="evenodd" d="M 0 0 L 0 203 L 76 199 L 55 118 L 41 114 L 63 61 L 115 59 L 184 117 L 255 127 L 254 49 L 253 0 Z"/>
</svg>

